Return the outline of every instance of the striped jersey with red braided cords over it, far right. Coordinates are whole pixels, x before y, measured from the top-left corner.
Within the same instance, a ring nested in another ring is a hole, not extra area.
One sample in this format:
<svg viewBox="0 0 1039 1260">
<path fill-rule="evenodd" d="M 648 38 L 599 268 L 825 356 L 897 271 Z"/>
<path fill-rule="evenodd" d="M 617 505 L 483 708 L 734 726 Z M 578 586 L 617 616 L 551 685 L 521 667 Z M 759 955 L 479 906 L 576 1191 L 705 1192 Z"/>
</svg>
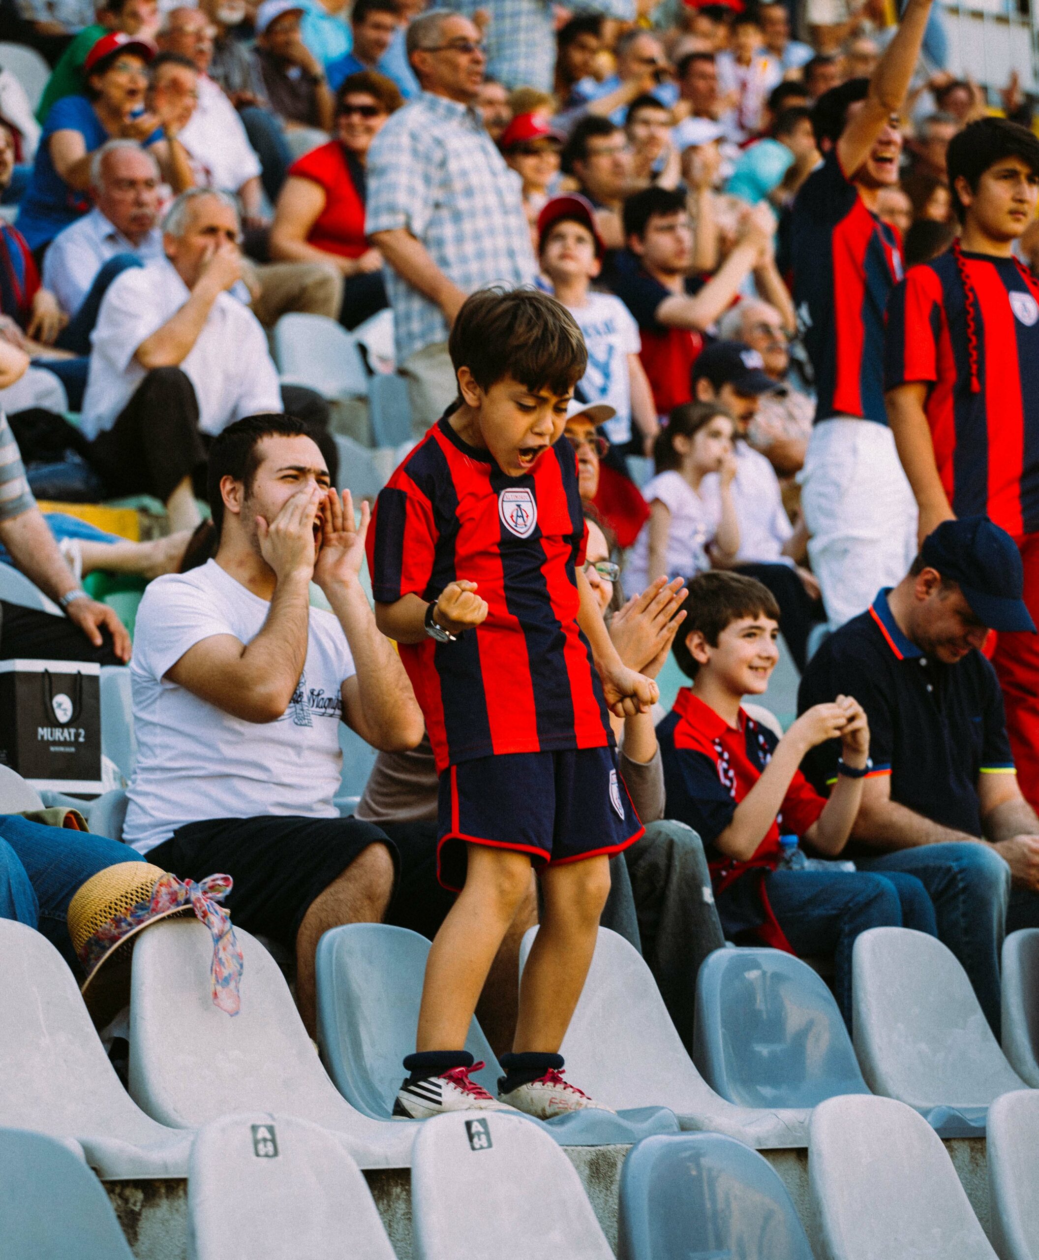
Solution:
<svg viewBox="0 0 1039 1260">
<path fill-rule="evenodd" d="M 1020 537 L 1039 529 L 1039 285 L 1013 258 L 952 252 L 912 267 L 888 304 L 885 386 L 931 386 L 934 460 L 957 517 L 987 515 Z"/>
</svg>

